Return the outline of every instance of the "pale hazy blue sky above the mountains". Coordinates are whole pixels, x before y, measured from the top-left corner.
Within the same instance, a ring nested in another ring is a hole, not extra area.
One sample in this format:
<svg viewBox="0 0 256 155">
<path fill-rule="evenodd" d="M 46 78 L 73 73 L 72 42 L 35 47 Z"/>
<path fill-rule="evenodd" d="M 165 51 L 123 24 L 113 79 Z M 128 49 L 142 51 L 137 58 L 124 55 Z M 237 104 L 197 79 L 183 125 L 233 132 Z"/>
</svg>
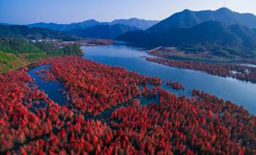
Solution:
<svg viewBox="0 0 256 155">
<path fill-rule="evenodd" d="M 256 0 L 226 0 L 227 8 L 256 14 Z M 138 17 L 163 20 L 177 11 L 216 10 L 224 0 L 0 0 L 0 23 L 72 23 Z"/>
</svg>

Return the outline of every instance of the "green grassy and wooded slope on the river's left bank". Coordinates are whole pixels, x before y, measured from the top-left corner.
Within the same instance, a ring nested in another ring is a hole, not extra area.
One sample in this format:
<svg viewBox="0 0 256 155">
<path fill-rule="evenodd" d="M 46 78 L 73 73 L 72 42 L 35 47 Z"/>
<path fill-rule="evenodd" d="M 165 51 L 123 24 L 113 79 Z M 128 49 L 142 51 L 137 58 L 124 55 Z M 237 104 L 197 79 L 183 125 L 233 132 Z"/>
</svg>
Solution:
<svg viewBox="0 0 256 155">
<path fill-rule="evenodd" d="M 78 44 L 57 47 L 51 43 L 32 43 L 25 39 L 0 39 L 0 73 L 12 71 L 31 62 L 51 56 L 81 55 Z"/>
</svg>

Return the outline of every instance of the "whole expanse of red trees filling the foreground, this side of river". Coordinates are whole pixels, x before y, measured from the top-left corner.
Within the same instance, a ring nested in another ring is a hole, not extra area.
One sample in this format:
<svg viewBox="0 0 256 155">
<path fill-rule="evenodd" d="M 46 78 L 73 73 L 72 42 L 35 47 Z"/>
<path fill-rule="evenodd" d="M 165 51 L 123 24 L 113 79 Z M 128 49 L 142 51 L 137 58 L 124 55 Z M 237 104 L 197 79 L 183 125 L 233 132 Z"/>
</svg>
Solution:
<svg viewBox="0 0 256 155">
<path fill-rule="evenodd" d="M 193 90 L 193 99 L 178 97 L 161 90 L 159 78 L 78 56 L 45 59 L 35 66 L 45 64 L 66 87 L 71 108 L 35 87 L 27 67 L 0 75 L 0 153 L 256 153 L 256 117 L 232 102 L 199 90 Z M 155 87 L 147 89 L 147 84 Z M 156 103 L 140 105 L 136 99 L 156 93 Z M 128 101 L 107 121 L 85 119 L 87 113 L 98 115 Z"/>
</svg>

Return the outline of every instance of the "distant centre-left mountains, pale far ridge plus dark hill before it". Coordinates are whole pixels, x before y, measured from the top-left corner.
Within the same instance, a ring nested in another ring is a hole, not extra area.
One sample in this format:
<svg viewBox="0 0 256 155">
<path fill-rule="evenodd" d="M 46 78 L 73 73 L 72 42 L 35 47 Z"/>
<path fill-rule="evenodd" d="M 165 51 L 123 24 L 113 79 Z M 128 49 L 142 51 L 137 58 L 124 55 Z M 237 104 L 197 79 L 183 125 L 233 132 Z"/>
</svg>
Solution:
<svg viewBox="0 0 256 155">
<path fill-rule="evenodd" d="M 157 20 L 140 20 L 131 18 L 128 20 L 113 20 L 112 22 L 98 22 L 97 20 L 86 20 L 80 23 L 57 24 L 57 23 L 33 23 L 31 28 L 40 27 L 69 32 L 84 38 L 116 38 L 128 31 L 148 29 L 155 25 Z"/>
</svg>

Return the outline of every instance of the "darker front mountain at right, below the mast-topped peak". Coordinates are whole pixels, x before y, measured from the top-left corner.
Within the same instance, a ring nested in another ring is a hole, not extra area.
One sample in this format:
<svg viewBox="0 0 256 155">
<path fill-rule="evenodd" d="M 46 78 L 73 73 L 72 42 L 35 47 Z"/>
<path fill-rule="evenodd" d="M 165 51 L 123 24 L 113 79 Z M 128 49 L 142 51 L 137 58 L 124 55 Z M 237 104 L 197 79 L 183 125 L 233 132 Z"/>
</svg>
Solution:
<svg viewBox="0 0 256 155">
<path fill-rule="evenodd" d="M 174 46 L 195 51 L 210 50 L 217 55 L 254 56 L 256 33 L 241 25 L 227 26 L 208 21 L 191 28 L 174 28 L 164 32 L 127 32 L 117 38 L 143 47 Z M 188 48 L 187 48 L 188 49 Z"/>
</svg>

